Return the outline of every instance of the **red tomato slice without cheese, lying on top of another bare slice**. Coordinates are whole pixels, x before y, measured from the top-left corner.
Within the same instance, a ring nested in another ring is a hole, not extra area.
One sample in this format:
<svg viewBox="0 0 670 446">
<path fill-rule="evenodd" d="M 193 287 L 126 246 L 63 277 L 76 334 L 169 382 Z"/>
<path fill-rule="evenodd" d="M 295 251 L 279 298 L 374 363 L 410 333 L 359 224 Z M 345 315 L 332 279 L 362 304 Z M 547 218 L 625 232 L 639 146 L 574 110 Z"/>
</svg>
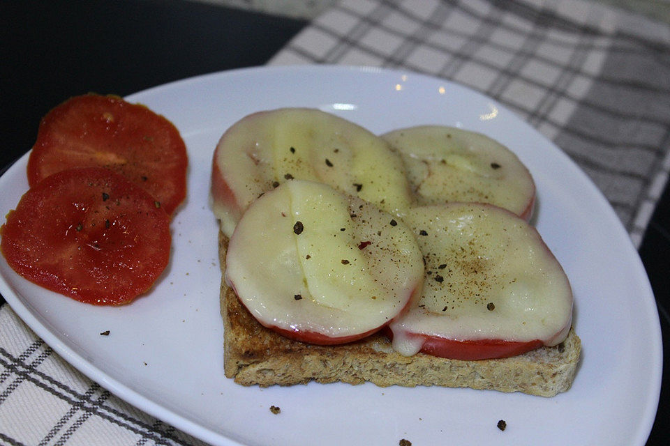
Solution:
<svg viewBox="0 0 670 446">
<path fill-rule="evenodd" d="M 170 259 L 170 217 L 101 167 L 68 169 L 26 192 L 0 228 L 9 265 L 40 286 L 94 305 L 147 291 Z"/>
</svg>

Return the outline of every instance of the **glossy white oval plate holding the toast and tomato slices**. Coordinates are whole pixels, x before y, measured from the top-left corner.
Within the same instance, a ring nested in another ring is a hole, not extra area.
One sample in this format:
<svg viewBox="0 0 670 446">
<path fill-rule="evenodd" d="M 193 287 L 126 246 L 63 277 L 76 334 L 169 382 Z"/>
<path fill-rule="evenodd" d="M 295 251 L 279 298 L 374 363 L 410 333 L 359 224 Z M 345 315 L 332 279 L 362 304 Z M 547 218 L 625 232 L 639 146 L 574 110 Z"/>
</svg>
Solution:
<svg viewBox="0 0 670 446">
<path fill-rule="evenodd" d="M 643 445 L 660 393 L 660 323 L 627 233 L 556 146 L 493 100 L 412 72 L 254 68 L 186 79 L 127 98 L 167 116 L 188 146 L 188 200 L 172 222 L 172 262 L 120 308 L 82 305 L 0 260 L 0 292 L 47 344 L 114 394 L 210 443 L 232 445 Z M 574 287 L 581 367 L 569 392 L 525 394 L 375 385 L 241 387 L 223 376 L 217 225 L 208 206 L 214 146 L 262 109 L 318 107 L 373 132 L 438 123 L 512 148 L 537 182 L 539 232 Z M 27 190 L 24 156 L 0 179 L 0 215 Z M 110 330 L 107 337 L 99 333 Z M 269 406 L 281 407 L 273 415 Z M 507 422 L 503 432 L 498 420 Z"/>
</svg>

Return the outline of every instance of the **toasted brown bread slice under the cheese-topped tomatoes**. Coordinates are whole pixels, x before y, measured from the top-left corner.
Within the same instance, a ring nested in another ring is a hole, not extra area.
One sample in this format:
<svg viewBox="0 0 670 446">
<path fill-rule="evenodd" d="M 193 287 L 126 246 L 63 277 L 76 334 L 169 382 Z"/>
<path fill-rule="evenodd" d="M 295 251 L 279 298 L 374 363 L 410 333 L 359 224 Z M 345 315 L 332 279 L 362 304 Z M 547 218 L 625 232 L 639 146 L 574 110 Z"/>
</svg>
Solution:
<svg viewBox="0 0 670 446">
<path fill-rule="evenodd" d="M 228 248 L 223 233 L 218 248 L 223 274 Z M 381 387 L 440 385 L 553 397 L 572 385 L 581 352 L 572 328 L 558 346 L 498 360 L 449 360 L 423 353 L 406 357 L 383 334 L 340 346 L 304 344 L 260 325 L 223 279 L 221 316 L 225 376 L 241 385 L 369 381 Z"/>
</svg>

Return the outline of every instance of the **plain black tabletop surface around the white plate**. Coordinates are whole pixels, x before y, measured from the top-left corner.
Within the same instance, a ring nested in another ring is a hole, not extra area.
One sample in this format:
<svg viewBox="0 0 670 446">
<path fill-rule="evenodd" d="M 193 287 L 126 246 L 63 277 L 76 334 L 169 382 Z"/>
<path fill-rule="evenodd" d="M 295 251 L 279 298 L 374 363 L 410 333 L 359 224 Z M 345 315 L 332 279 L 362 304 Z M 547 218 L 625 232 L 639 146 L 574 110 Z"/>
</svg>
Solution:
<svg viewBox="0 0 670 446">
<path fill-rule="evenodd" d="M 0 168 L 29 150 L 40 118 L 70 96 L 89 92 L 124 96 L 185 77 L 263 65 L 305 25 L 183 0 L 3 1 Z M 668 188 L 639 252 L 659 305 L 667 365 Z M 667 445 L 670 439 L 667 367 L 663 376 L 650 446 Z"/>
</svg>

